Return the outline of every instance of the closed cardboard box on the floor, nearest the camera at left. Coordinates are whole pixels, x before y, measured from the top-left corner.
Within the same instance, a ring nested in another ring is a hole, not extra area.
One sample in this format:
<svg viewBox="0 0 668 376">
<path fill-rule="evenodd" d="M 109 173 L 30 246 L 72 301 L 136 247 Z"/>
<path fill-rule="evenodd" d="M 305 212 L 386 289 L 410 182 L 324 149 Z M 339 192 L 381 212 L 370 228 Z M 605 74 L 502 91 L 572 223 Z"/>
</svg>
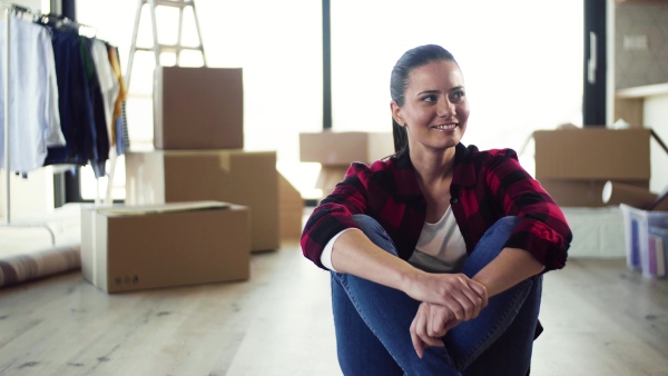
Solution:
<svg viewBox="0 0 668 376">
<path fill-rule="evenodd" d="M 84 278 L 106 293 L 248 279 L 249 210 L 222 205 L 84 207 Z"/>
</svg>

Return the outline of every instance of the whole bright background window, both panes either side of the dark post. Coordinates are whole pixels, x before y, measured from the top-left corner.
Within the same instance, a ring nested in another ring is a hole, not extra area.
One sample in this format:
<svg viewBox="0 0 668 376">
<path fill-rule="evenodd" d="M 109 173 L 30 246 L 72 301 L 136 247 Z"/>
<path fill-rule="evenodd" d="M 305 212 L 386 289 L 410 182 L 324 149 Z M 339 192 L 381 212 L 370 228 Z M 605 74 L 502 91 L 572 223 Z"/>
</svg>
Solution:
<svg viewBox="0 0 668 376">
<path fill-rule="evenodd" d="M 77 7 L 80 22 L 118 46 L 126 69 L 137 1 Z M 318 197 L 320 167 L 298 161 L 298 133 L 322 129 L 321 2 L 197 0 L 196 7 L 208 65 L 244 69 L 246 149 L 277 150 L 278 170 L 305 198 Z M 144 13 L 139 40 L 150 46 Z M 424 43 L 444 46 L 462 67 L 472 109 L 464 144 L 519 151 L 534 129 L 581 123 L 581 1 L 336 0 L 331 13 L 334 130 L 390 131 L 390 71 L 401 53 Z M 160 37 L 174 36 L 170 17 L 158 14 Z M 193 30 L 186 20 L 186 39 Z M 153 65 L 150 53 L 137 53 L 127 102 L 134 148 L 153 146 Z M 532 157 L 522 160 L 530 171 Z M 115 198 L 125 197 L 122 165 Z M 89 167 L 81 191 L 96 196 Z"/>
</svg>

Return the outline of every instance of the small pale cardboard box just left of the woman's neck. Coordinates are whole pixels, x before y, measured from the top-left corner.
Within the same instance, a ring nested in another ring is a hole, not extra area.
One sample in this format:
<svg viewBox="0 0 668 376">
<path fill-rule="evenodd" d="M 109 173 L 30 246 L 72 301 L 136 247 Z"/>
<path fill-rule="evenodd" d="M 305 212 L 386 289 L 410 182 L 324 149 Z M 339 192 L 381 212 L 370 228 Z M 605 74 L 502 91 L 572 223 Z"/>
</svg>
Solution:
<svg viewBox="0 0 668 376">
<path fill-rule="evenodd" d="M 299 158 L 323 166 L 371 164 L 394 154 L 392 132 L 304 132 L 299 133 Z"/>
</svg>

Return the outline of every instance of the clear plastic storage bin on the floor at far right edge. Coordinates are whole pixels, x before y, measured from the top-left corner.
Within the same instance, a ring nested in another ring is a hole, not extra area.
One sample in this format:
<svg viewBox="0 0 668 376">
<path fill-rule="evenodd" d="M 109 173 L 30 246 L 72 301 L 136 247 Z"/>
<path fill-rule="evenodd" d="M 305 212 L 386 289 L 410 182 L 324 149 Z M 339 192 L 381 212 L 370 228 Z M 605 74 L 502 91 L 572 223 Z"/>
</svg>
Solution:
<svg viewBox="0 0 668 376">
<path fill-rule="evenodd" d="M 668 211 L 647 211 L 623 204 L 619 207 L 625 222 L 627 266 L 631 269 L 641 269 L 642 274 L 648 277 L 658 276 L 657 270 L 661 268 L 660 266 L 657 267 L 657 261 L 660 260 L 660 257 L 657 257 L 656 238 L 654 236 L 654 255 L 650 257 L 649 230 L 650 227 L 652 231 L 668 229 Z"/>
</svg>

